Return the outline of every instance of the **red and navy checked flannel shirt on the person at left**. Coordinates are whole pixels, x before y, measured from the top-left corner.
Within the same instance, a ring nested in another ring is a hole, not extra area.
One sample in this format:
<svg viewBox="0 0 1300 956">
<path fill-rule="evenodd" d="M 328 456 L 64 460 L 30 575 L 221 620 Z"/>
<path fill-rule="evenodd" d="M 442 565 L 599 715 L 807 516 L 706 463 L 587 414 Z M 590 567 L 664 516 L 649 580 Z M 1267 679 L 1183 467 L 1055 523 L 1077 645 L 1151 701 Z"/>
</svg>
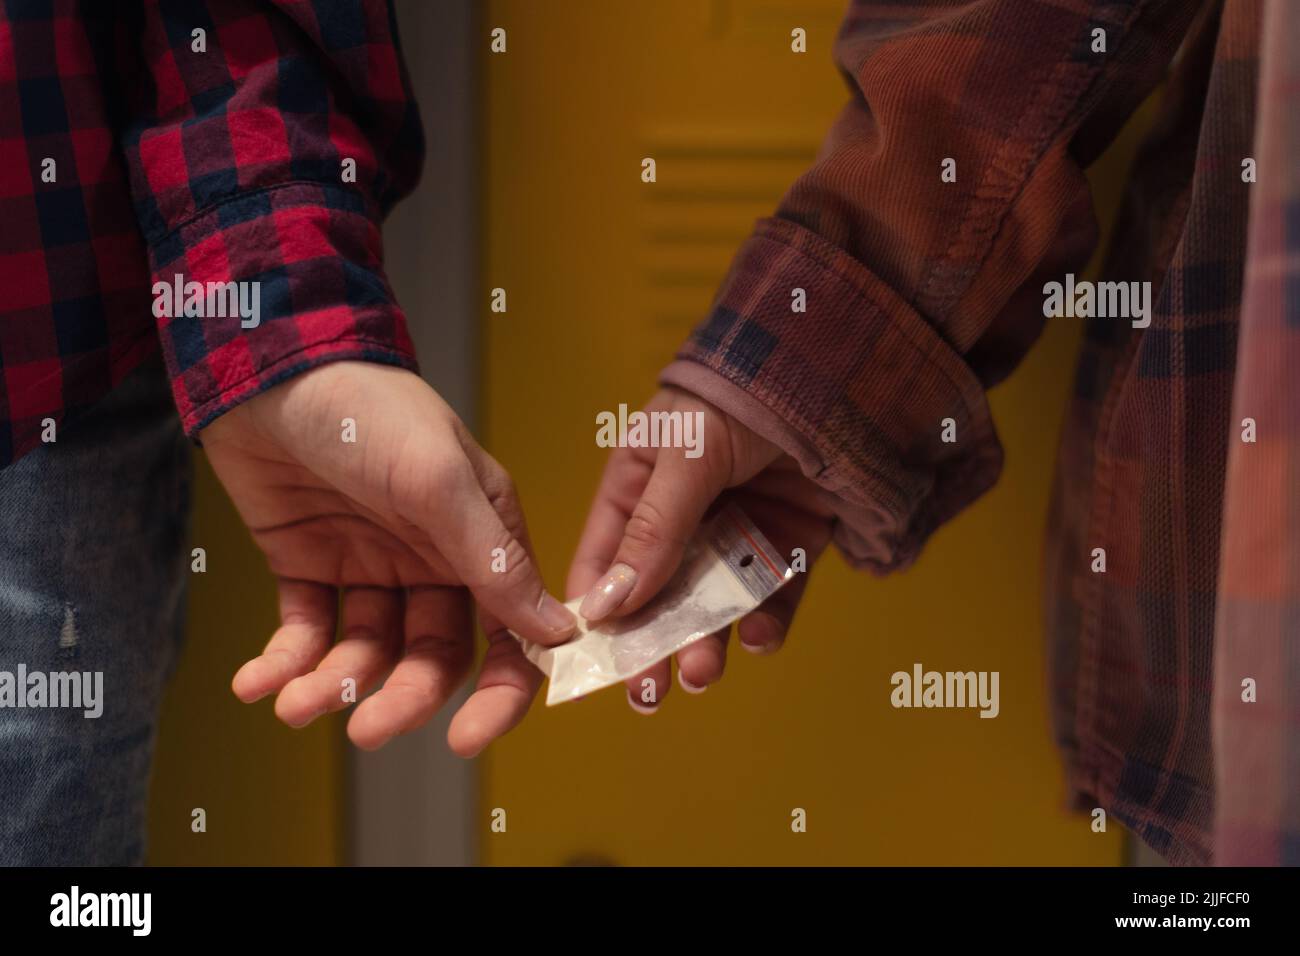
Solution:
<svg viewBox="0 0 1300 956">
<path fill-rule="evenodd" d="M 159 342 L 190 433 L 322 362 L 413 368 L 380 221 L 421 159 L 384 0 L 5 0 L 0 466 Z M 177 274 L 259 282 L 260 324 L 155 320 Z"/>
</svg>

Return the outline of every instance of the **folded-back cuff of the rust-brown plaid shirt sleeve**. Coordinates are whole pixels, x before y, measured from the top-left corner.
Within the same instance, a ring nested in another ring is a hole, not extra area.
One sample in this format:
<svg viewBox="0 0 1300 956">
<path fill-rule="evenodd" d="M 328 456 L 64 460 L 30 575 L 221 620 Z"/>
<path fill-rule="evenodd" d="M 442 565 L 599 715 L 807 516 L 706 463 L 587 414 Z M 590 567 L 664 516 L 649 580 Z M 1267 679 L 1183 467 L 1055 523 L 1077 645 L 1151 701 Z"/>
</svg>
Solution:
<svg viewBox="0 0 1300 956">
<path fill-rule="evenodd" d="M 790 454 L 835 509 L 845 557 L 878 574 L 910 564 L 1001 472 L 984 389 L 957 351 L 866 267 L 786 220 L 758 224 L 660 381 Z"/>
</svg>

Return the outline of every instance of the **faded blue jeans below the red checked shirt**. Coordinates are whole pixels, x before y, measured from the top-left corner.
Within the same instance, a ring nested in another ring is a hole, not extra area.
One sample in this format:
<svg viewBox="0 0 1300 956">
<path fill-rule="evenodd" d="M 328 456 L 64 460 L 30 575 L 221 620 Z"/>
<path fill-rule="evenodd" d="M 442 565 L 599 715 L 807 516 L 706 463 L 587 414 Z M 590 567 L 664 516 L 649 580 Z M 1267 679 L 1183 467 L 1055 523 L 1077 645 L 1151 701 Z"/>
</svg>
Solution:
<svg viewBox="0 0 1300 956">
<path fill-rule="evenodd" d="M 156 360 L 0 471 L 0 865 L 143 862 L 188 497 Z"/>
</svg>

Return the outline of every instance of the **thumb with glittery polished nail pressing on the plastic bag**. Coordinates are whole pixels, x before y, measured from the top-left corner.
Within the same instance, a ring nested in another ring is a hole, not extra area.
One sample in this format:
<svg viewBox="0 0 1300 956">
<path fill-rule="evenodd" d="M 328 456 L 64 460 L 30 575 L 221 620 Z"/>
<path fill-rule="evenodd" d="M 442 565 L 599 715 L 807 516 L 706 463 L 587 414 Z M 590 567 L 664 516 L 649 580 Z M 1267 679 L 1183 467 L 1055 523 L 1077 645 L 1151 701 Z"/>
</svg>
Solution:
<svg viewBox="0 0 1300 956">
<path fill-rule="evenodd" d="M 578 607 L 588 620 L 623 617 L 659 593 L 681 563 L 705 511 L 727 488 L 729 454 L 686 458 L 659 450 L 650 480 L 632 509 L 614 563 Z"/>
</svg>

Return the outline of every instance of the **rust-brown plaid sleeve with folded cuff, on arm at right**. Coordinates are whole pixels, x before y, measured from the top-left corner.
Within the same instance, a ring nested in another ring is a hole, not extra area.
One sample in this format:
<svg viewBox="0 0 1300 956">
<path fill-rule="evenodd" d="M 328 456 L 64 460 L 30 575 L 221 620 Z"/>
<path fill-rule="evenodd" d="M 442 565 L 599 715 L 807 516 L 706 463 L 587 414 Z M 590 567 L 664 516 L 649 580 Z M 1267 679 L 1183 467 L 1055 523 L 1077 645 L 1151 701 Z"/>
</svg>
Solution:
<svg viewBox="0 0 1300 956">
<path fill-rule="evenodd" d="M 852 101 L 662 381 L 793 454 L 853 563 L 910 563 L 996 481 L 985 389 L 1041 330 L 1044 281 L 1087 263 L 1082 169 L 1195 8 L 852 4 L 836 44 Z"/>
</svg>

